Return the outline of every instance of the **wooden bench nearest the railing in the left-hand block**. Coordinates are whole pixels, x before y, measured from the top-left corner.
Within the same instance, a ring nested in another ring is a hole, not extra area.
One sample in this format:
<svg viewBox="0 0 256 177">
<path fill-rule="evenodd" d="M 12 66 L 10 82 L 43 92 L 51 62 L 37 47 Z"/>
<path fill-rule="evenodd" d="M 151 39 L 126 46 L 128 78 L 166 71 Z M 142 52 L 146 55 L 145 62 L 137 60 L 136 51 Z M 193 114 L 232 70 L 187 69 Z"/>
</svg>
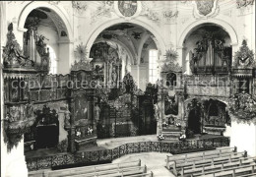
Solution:
<svg viewBox="0 0 256 177">
<path fill-rule="evenodd" d="M 97 171 L 106 171 L 106 170 L 113 170 L 113 169 L 120 170 L 123 168 L 137 167 L 137 166 L 141 166 L 141 160 L 54 170 L 54 171 L 49 171 L 47 176 L 62 177 L 62 176 L 70 176 L 70 175 L 84 174 L 84 173 L 95 173 Z"/>
</svg>

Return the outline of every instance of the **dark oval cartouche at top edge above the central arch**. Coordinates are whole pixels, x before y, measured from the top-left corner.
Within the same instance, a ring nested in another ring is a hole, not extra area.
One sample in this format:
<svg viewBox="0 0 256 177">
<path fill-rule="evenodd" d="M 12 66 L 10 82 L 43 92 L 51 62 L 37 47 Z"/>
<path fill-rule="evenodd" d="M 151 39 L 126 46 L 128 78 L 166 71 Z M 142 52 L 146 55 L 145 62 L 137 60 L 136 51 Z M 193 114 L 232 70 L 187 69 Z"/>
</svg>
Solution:
<svg viewBox="0 0 256 177">
<path fill-rule="evenodd" d="M 132 17 L 137 11 L 137 1 L 118 1 L 118 9 L 125 17 Z"/>
</svg>

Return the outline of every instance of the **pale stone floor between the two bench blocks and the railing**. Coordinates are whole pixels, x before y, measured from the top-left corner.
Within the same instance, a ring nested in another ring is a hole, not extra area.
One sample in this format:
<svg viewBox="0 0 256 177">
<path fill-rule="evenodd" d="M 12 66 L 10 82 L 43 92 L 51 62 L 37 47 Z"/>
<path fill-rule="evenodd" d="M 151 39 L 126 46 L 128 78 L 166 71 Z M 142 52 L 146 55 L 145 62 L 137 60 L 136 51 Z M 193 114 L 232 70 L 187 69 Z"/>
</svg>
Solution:
<svg viewBox="0 0 256 177">
<path fill-rule="evenodd" d="M 122 156 L 113 161 L 113 163 L 122 163 L 123 161 L 133 161 L 141 159 L 142 166 L 146 164 L 147 172 L 153 172 L 154 177 L 173 177 L 174 175 L 165 168 L 166 155 L 169 153 L 143 152 L 133 153 Z"/>
</svg>

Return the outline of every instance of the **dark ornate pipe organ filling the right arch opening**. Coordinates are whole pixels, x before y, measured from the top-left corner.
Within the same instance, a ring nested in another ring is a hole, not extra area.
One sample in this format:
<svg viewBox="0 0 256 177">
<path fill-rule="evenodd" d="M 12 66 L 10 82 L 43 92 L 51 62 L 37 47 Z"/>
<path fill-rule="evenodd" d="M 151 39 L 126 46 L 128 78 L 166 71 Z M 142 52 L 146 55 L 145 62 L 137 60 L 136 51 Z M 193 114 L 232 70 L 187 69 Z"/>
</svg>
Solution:
<svg viewBox="0 0 256 177">
<path fill-rule="evenodd" d="M 215 29 L 215 30 L 214 30 Z M 197 29 L 192 36 L 201 38 L 195 42 L 190 68 L 195 74 L 227 74 L 231 67 L 229 36 L 223 29 L 209 27 Z"/>
</svg>

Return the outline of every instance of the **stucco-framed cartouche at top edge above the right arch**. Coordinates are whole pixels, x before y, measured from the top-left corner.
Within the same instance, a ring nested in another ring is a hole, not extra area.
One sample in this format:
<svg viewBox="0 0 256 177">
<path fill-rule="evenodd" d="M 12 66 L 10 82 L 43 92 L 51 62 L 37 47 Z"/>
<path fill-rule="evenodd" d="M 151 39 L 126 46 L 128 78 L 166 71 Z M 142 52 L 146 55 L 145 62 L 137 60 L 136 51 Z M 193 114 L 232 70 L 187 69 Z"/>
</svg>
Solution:
<svg viewBox="0 0 256 177">
<path fill-rule="evenodd" d="M 198 18 L 213 18 L 219 14 L 220 7 L 218 0 L 202 0 L 194 2 L 194 17 Z"/>
</svg>

